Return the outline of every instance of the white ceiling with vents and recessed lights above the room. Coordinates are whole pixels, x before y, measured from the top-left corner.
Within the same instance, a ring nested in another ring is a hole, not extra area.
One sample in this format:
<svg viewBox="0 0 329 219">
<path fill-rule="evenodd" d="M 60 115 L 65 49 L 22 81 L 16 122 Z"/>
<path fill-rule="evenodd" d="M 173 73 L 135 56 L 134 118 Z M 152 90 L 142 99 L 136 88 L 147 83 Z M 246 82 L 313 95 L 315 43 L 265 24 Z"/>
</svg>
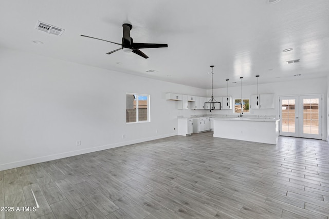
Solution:
<svg viewBox="0 0 329 219">
<path fill-rule="evenodd" d="M 329 74 L 329 1 L 281 0 L 15 0 L 0 3 L 1 47 L 70 62 L 211 88 L 319 77 Z M 65 29 L 55 36 L 37 21 Z M 121 43 L 122 24 L 133 25 L 150 58 L 80 34 Z M 43 45 L 33 41 L 42 41 Z M 290 52 L 283 49 L 293 48 Z M 291 59 L 300 63 L 287 64 Z M 146 72 L 150 69 L 155 72 Z M 301 76 L 294 76 L 301 74 Z"/>
</svg>

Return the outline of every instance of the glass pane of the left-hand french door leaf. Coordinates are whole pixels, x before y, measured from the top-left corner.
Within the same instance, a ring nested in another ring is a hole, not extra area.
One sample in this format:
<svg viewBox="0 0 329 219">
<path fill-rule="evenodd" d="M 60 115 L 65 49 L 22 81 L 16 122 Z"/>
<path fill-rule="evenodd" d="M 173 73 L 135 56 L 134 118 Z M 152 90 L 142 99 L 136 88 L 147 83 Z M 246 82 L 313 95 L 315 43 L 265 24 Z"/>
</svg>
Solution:
<svg viewBox="0 0 329 219">
<path fill-rule="evenodd" d="M 282 100 L 282 131 L 295 133 L 295 99 Z"/>
</svg>

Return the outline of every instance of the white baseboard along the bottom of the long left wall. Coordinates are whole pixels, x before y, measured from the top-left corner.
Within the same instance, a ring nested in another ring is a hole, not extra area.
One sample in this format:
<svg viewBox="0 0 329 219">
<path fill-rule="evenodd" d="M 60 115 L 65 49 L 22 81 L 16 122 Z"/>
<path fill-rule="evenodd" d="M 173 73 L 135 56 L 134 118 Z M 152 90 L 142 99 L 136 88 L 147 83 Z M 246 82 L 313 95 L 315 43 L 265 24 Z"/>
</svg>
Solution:
<svg viewBox="0 0 329 219">
<path fill-rule="evenodd" d="M 76 155 L 85 154 L 85 153 L 102 151 L 102 150 L 121 147 L 121 146 L 125 146 L 125 145 L 131 145 L 131 144 L 137 144 L 137 143 L 141 143 L 141 142 L 157 140 L 160 138 L 170 137 L 170 136 L 175 136 L 175 135 L 177 135 L 177 132 L 165 134 L 165 135 L 157 135 L 157 136 L 152 136 L 152 137 L 147 137 L 147 138 L 140 138 L 140 139 L 136 139 L 136 140 L 132 140 L 132 141 L 119 142 L 119 143 L 115 143 L 115 144 L 102 145 L 102 146 L 97 146 L 97 147 L 93 147 L 93 148 L 86 148 L 86 149 L 82 149 L 82 150 L 69 151 L 69 152 L 64 152 L 64 153 L 59 153 L 59 154 L 52 154 L 52 155 L 48 155 L 48 156 L 35 157 L 35 158 L 24 160 L 24 161 L 16 161 L 16 162 L 7 163 L 7 164 L 1 164 L 0 171 L 17 168 L 17 167 L 23 167 L 23 166 L 27 166 L 27 165 L 31 165 L 31 164 L 38 164 L 38 163 L 42 163 L 42 162 L 53 161 L 53 160 L 70 157 L 70 156 L 76 156 Z"/>
</svg>

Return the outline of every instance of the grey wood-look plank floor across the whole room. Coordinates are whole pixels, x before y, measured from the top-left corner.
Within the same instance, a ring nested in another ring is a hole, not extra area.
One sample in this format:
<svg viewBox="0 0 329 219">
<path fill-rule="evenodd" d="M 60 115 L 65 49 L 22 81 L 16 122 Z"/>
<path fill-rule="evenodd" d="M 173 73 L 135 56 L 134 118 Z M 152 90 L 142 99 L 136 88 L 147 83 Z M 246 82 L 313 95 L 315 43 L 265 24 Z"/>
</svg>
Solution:
<svg viewBox="0 0 329 219">
<path fill-rule="evenodd" d="M 327 219 L 328 162 L 319 140 L 173 136 L 0 171 L 0 218 Z"/>
</svg>

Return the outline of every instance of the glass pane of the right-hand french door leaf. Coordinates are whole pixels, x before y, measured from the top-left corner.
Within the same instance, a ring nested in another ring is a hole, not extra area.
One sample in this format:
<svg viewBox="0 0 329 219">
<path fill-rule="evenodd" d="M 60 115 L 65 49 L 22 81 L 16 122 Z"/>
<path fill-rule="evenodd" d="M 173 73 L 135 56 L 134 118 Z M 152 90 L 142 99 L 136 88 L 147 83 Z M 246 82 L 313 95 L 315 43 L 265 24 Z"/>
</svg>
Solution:
<svg viewBox="0 0 329 219">
<path fill-rule="evenodd" d="M 319 134 L 319 98 L 303 99 L 303 133 Z"/>
</svg>

